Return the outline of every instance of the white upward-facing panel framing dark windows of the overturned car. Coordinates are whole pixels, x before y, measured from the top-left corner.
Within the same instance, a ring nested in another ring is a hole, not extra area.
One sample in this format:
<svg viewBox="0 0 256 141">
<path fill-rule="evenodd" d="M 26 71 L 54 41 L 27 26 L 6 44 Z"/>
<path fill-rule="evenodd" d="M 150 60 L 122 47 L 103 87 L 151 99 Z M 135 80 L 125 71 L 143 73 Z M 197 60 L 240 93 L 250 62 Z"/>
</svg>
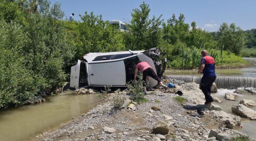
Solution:
<svg viewBox="0 0 256 141">
<path fill-rule="evenodd" d="M 137 53 L 142 53 L 144 51 L 132 51 L 135 54 Z M 108 61 L 113 61 L 113 60 L 100 60 L 100 61 L 93 61 L 97 56 L 105 56 L 105 55 L 116 55 L 116 54 L 131 54 L 130 51 L 118 51 L 118 52 L 95 52 L 95 53 L 88 53 L 85 54 L 82 58 L 83 60 L 86 60 L 87 63 L 97 63 L 97 62 L 108 62 Z M 134 56 L 131 55 L 131 56 Z M 126 58 L 129 58 L 131 56 L 128 56 Z M 119 60 L 122 60 L 122 58 L 120 58 Z"/>
</svg>

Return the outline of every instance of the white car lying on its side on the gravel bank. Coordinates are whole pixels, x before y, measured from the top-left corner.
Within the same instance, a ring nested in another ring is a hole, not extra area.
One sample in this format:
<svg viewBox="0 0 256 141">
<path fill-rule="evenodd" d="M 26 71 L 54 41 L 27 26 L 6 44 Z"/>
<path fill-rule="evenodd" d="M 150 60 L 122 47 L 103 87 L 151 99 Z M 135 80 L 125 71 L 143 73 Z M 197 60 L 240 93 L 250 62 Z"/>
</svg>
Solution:
<svg viewBox="0 0 256 141">
<path fill-rule="evenodd" d="M 146 61 L 159 77 L 165 71 L 167 60 L 160 58 L 160 49 L 152 48 L 147 51 L 121 51 L 106 53 L 88 53 L 71 67 L 70 87 L 126 87 L 126 83 L 134 79 L 138 61 Z M 161 63 L 161 59 L 164 60 Z M 149 87 L 157 84 L 149 80 Z"/>
</svg>

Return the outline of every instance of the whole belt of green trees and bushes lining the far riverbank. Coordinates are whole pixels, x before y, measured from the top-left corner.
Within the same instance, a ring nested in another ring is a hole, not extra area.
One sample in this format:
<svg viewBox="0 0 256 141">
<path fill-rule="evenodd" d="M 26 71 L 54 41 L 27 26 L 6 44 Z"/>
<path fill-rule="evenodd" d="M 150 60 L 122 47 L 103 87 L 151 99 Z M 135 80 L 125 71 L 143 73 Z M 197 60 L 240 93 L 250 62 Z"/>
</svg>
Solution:
<svg viewBox="0 0 256 141">
<path fill-rule="evenodd" d="M 213 35 L 186 23 L 184 14 L 167 22 L 149 14 L 143 2 L 133 9 L 128 31 L 121 32 L 93 12 L 85 11 L 79 21 L 63 20 L 58 2 L 0 0 L 0 108 L 52 94 L 69 80 L 70 66 L 89 52 L 161 47 L 170 67 L 192 69 L 207 49 L 217 65 L 245 63 L 239 56 L 245 34 L 235 24 L 223 23 Z"/>
</svg>

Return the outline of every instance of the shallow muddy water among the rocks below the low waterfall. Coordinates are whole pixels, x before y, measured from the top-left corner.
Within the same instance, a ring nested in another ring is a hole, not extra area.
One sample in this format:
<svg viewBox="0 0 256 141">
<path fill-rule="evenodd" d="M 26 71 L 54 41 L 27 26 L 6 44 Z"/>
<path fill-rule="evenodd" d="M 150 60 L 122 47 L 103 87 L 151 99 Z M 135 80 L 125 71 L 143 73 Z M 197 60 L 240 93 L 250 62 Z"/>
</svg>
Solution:
<svg viewBox="0 0 256 141">
<path fill-rule="evenodd" d="M 233 93 L 234 90 L 218 89 L 218 92 L 216 94 L 211 94 L 211 95 L 213 97 L 217 97 L 217 98 L 219 98 L 220 100 L 223 101 L 223 103 L 214 102 L 213 104 L 217 104 L 217 105 L 221 106 L 221 108 L 225 112 L 230 113 L 230 114 L 234 114 L 234 113 L 232 113 L 232 110 L 231 110 L 232 105 L 239 104 L 240 100 L 242 100 L 242 99 L 250 99 L 250 100 L 256 101 L 256 96 L 253 96 L 253 95 L 247 95 L 247 96 L 246 95 L 237 95 L 237 98 L 236 98 L 235 101 L 226 100 L 224 98 L 224 95 L 225 95 L 226 92 Z M 249 107 L 249 108 L 251 108 L 252 110 L 256 110 L 256 107 Z M 253 137 L 254 139 L 256 139 L 256 134 L 255 134 L 255 131 L 256 131 L 256 121 L 255 120 L 253 121 L 253 120 L 250 120 L 250 119 L 242 117 L 241 123 L 243 123 L 243 128 L 237 127 L 236 129 L 239 132 L 247 134 L 250 137 Z"/>
</svg>

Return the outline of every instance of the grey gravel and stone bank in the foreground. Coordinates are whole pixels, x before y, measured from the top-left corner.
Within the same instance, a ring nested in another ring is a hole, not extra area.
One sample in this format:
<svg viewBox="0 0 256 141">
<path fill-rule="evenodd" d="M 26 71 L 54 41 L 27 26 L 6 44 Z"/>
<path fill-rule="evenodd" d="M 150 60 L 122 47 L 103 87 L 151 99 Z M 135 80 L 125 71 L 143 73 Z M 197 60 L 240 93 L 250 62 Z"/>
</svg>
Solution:
<svg viewBox="0 0 256 141">
<path fill-rule="evenodd" d="M 184 102 L 177 100 L 180 90 Z M 195 83 L 181 83 L 165 92 L 156 89 L 145 96 L 146 103 L 128 101 L 126 90 L 102 96 L 102 102 L 88 113 L 37 135 L 33 141 L 226 141 L 233 137 L 255 139 L 234 130 L 241 117 L 204 103 L 204 94 Z M 114 108 L 122 95 L 127 104 Z M 122 107 L 121 106 L 121 107 Z"/>
</svg>

